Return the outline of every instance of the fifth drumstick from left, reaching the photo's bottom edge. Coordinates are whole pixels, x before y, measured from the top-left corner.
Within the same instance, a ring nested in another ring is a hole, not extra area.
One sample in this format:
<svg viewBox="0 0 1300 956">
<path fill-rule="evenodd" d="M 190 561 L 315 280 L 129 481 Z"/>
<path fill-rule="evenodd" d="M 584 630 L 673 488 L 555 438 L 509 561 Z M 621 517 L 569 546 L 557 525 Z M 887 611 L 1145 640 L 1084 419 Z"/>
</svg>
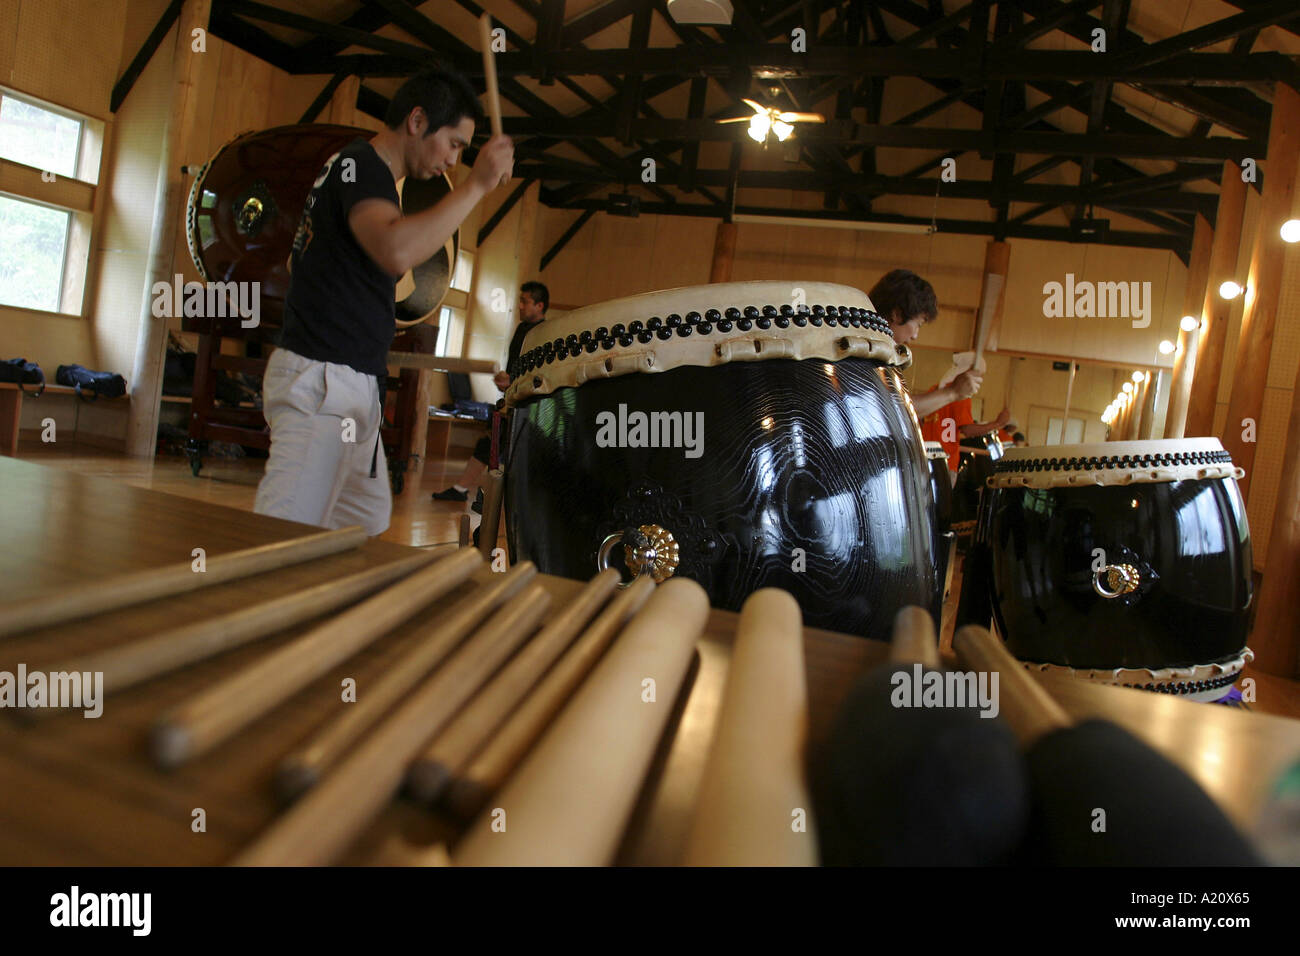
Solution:
<svg viewBox="0 0 1300 956">
<path fill-rule="evenodd" d="M 332 862 L 396 793 L 429 736 L 533 632 L 550 606 L 541 584 L 498 610 L 365 743 L 299 800 L 233 862 L 237 866 L 320 866 Z"/>
</svg>

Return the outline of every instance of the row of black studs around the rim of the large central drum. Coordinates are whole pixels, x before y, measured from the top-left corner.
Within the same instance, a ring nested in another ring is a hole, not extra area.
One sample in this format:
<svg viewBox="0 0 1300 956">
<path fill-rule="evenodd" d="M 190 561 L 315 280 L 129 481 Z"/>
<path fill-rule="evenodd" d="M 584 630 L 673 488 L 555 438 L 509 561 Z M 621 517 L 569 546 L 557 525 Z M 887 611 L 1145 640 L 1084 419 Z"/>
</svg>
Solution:
<svg viewBox="0 0 1300 956">
<path fill-rule="evenodd" d="M 725 312 L 710 308 L 703 315 L 699 312 L 686 312 L 685 317 L 673 312 L 667 319 L 653 316 L 645 323 L 640 320 L 628 323 L 628 325 L 618 323 L 608 329 L 602 325 L 594 332 L 573 333 L 568 338 L 556 338 L 554 342 L 530 349 L 523 356 L 520 375 L 532 372 L 543 363 L 550 364 L 556 359 L 563 360 L 581 351 L 594 352 L 597 349 L 612 349 L 615 345 L 629 347 L 633 339 L 645 345 L 654 341 L 656 336 L 667 341 L 672 338 L 673 332 L 682 337 L 692 334 L 692 332 L 708 336 L 715 326 L 718 332 L 725 333 L 732 330 L 733 324 L 740 332 L 749 332 L 755 325 L 766 330 L 772 328 L 774 323 L 779 329 L 788 329 L 790 323 L 794 323 L 798 328 L 803 328 L 805 325 L 820 328 L 823 323 L 826 325 L 838 324 L 844 328 L 853 326 L 855 329 L 866 325 L 874 332 L 890 334 L 889 321 L 880 313 L 872 312 L 868 308 L 850 306 L 812 306 L 811 308 L 803 307 L 801 310 L 796 310 L 788 304 L 780 307 L 763 306 L 762 310 L 758 306 L 746 306 L 744 311 L 732 307 Z"/>
</svg>

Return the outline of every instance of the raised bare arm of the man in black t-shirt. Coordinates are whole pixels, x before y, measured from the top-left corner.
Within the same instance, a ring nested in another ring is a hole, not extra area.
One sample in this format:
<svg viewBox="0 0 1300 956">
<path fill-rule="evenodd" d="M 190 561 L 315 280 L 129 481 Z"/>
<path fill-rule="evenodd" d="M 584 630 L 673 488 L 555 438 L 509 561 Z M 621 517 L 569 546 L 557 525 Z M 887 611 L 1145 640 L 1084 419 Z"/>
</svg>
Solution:
<svg viewBox="0 0 1300 956">
<path fill-rule="evenodd" d="M 363 199 L 347 215 L 358 245 L 390 276 L 402 276 L 446 246 L 465 216 L 515 165 L 508 137 L 493 137 L 478 151 L 465 181 L 436 206 L 403 216 L 387 199 Z"/>
</svg>

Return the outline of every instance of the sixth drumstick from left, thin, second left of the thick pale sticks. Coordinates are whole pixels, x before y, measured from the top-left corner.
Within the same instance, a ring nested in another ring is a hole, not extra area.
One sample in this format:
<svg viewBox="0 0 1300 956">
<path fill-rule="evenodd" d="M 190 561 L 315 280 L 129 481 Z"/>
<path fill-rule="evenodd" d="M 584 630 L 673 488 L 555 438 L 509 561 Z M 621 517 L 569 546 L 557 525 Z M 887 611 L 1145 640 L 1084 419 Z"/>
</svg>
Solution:
<svg viewBox="0 0 1300 956">
<path fill-rule="evenodd" d="M 433 801 L 442 795 L 451 775 L 465 765 L 555 658 L 564 653 L 618 583 L 619 572 L 614 568 L 606 568 L 588 581 L 564 611 L 547 622 L 541 633 L 425 748 L 407 774 L 407 788 L 417 800 Z M 649 591 L 645 593 L 649 596 Z"/>
</svg>

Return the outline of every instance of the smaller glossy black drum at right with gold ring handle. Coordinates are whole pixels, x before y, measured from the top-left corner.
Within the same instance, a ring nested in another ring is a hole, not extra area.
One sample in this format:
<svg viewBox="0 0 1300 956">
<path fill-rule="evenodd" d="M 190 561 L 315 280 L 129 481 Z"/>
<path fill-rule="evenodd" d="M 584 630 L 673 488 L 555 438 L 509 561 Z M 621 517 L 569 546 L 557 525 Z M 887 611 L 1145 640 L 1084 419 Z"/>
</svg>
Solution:
<svg viewBox="0 0 1300 956">
<path fill-rule="evenodd" d="M 1252 657 L 1240 473 L 1216 438 L 1010 449 L 968 587 L 1032 667 L 1222 697 Z"/>
</svg>

